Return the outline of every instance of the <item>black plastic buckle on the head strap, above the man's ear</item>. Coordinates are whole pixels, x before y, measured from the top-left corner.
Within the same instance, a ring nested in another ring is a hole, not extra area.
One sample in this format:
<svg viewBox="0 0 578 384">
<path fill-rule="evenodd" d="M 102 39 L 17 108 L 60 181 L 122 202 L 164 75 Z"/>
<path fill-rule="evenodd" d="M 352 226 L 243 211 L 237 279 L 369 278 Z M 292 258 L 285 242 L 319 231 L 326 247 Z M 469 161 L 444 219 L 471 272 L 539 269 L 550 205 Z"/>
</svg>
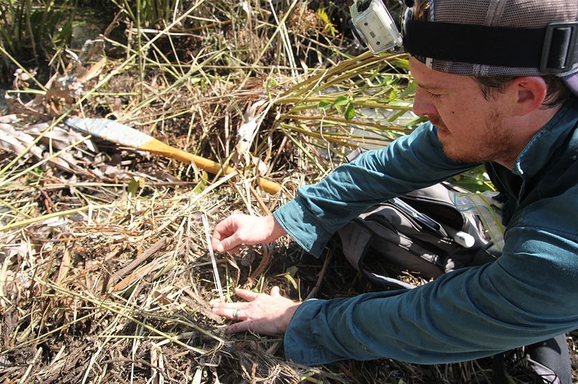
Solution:
<svg viewBox="0 0 578 384">
<path fill-rule="evenodd" d="M 563 73 L 578 64 L 578 21 L 550 23 L 542 46 L 540 71 Z"/>
</svg>

